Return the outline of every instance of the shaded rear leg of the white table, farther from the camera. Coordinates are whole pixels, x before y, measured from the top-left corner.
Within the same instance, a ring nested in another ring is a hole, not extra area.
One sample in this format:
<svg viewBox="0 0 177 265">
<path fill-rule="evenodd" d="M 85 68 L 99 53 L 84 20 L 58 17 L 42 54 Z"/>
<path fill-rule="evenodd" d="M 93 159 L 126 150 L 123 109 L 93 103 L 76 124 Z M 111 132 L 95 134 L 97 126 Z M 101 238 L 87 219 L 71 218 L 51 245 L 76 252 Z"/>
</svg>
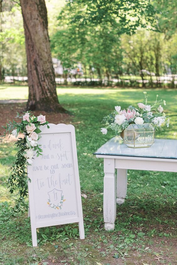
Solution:
<svg viewBox="0 0 177 265">
<path fill-rule="evenodd" d="M 127 169 L 117 169 L 117 204 L 125 201 L 127 189 Z"/>
</svg>

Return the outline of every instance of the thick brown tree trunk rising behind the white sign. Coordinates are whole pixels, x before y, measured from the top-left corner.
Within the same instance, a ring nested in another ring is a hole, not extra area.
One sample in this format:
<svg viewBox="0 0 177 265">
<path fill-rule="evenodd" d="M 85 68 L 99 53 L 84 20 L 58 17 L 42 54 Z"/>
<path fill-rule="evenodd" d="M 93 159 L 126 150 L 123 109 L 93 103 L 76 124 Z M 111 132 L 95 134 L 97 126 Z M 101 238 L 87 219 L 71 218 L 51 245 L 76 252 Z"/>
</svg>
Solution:
<svg viewBox="0 0 177 265">
<path fill-rule="evenodd" d="M 64 112 L 56 94 L 45 0 L 20 0 L 20 5 L 28 69 L 27 110 Z"/>
</svg>

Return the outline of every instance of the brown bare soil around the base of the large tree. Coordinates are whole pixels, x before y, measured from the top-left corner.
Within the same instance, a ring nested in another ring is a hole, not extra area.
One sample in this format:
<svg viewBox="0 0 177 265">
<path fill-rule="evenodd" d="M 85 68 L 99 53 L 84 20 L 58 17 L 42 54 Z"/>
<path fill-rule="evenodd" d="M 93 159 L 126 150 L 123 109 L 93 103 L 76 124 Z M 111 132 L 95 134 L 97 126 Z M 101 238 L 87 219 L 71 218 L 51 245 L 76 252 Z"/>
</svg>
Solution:
<svg viewBox="0 0 177 265">
<path fill-rule="evenodd" d="M 3 135 L 4 129 L 1 126 L 5 126 L 7 122 L 13 121 L 14 117 L 16 116 L 17 112 L 20 114 L 25 111 L 25 103 L 6 103 L 0 104 L 0 137 Z M 45 111 L 34 111 L 35 116 L 46 115 L 46 120 L 50 123 L 58 124 L 58 123 L 71 123 L 72 115 L 67 113 L 56 113 L 56 112 L 45 112 Z M 15 119 L 19 121 L 19 119 Z M 20 134 L 19 137 L 23 135 Z M 16 141 L 14 136 L 10 136 L 10 138 L 6 138 L 7 142 Z"/>
</svg>

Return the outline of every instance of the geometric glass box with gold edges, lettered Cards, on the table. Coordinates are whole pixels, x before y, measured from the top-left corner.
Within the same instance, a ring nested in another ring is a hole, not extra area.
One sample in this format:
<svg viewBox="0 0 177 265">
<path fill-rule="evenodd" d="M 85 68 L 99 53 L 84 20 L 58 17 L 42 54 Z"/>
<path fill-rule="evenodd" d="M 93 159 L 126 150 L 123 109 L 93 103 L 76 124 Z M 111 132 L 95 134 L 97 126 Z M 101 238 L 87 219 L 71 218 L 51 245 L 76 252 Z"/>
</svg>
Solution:
<svg viewBox="0 0 177 265">
<path fill-rule="evenodd" d="M 150 147 L 155 142 L 155 129 L 150 123 L 130 124 L 124 131 L 124 143 L 128 147 Z"/>
</svg>

